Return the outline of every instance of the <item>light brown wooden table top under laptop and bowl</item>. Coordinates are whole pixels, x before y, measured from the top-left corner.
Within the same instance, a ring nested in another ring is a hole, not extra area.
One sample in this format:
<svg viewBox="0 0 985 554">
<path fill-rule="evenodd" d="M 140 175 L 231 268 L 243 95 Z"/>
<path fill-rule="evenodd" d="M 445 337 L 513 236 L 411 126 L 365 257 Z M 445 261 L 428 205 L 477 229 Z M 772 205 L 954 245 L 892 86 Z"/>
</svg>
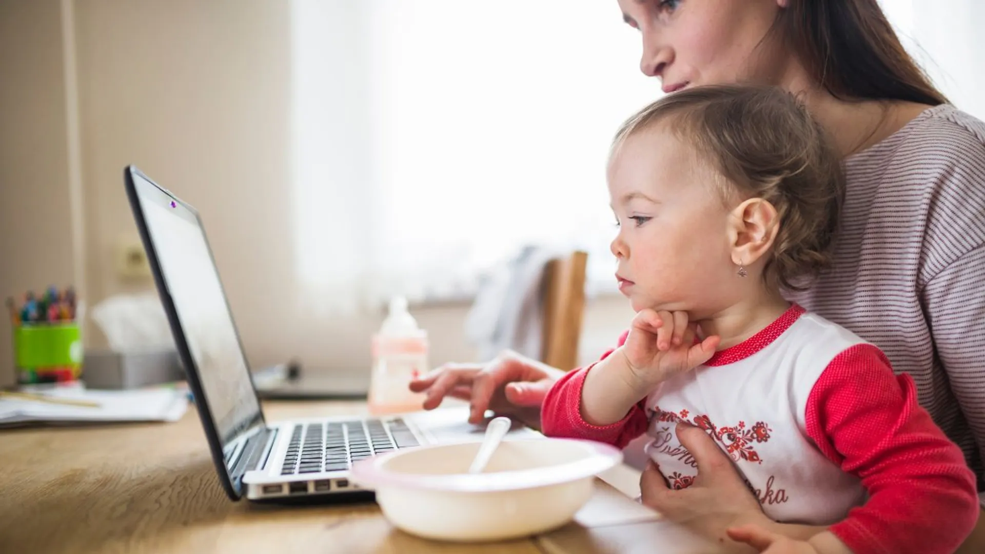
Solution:
<svg viewBox="0 0 985 554">
<path fill-rule="evenodd" d="M 363 412 L 360 402 L 272 402 L 269 420 Z M 428 541 L 374 504 L 233 503 L 194 408 L 177 423 L 0 431 L 0 553 L 647 553 L 719 552 L 598 481 L 576 520 L 530 539 Z"/>
</svg>

